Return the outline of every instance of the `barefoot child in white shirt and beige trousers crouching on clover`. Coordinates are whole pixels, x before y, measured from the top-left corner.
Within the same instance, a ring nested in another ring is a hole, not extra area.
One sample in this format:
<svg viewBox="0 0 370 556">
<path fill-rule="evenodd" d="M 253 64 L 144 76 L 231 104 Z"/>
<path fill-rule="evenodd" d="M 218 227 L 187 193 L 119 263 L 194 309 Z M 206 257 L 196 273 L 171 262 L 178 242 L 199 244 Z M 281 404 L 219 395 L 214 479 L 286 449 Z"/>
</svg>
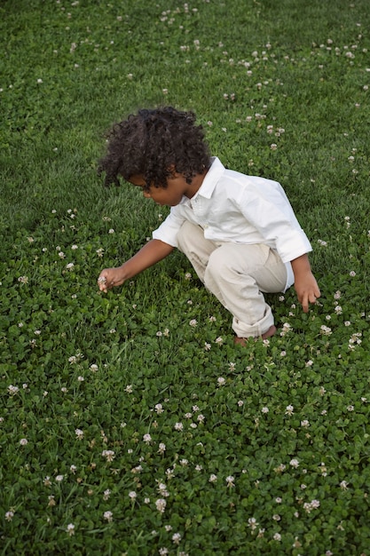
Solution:
<svg viewBox="0 0 370 556">
<path fill-rule="evenodd" d="M 282 187 L 226 170 L 209 155 L 193 112 L 143 109 L 117 123 L 102 171 L 106 185 L 119 185 L 122 177 L 171 210 L 136 255 L 100 273 L 101 291 L 121 286 L 177 248 L 232 314 L 241 345 L 276 332 L 265 292 L 284 292 L 294 283 L 305 313 L 319 298 L 307 256 L 311 244 Z"/>
</svg>

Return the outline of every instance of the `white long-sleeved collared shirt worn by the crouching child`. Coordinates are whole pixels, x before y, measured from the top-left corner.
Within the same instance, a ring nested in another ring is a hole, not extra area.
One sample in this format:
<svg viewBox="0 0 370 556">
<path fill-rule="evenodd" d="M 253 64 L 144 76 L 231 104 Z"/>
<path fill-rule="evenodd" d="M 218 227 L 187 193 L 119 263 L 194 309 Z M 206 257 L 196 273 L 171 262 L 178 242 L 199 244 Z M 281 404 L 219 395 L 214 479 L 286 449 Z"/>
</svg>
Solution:
<svg viewBox="0 0 370 556">
<path fill-rule="evenodd" d="M 177 233 L 189 220 L 214 242 L 264 243 L 286 264 L 288 288 L 294 283 L 290 261 L 312 248 L 284 189 L 272 179 L 226 170 L 216 157 L 212 161 L 197 193 L 171 207 L 153 238 L 177 247 Z"/>
</svg>

